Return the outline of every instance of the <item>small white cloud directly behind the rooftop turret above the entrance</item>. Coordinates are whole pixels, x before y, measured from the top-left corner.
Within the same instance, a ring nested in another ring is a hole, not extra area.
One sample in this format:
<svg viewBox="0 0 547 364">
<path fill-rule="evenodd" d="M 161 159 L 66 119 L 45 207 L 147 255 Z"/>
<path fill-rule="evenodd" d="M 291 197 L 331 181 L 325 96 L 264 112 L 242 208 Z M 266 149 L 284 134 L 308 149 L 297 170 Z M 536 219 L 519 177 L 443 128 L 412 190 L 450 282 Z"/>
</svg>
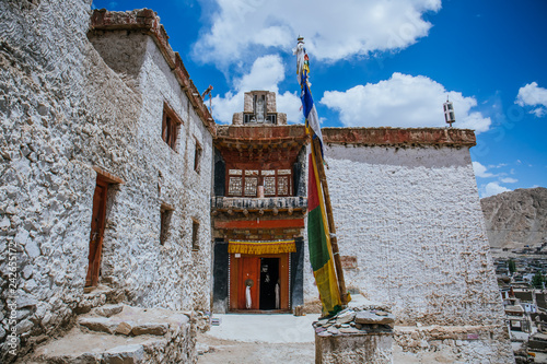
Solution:
<svg viewBox="0 0 547 364">
<path fill-rule="evenodd" d="M 279 94 L 278 84 L 284 80 L 284 67 L 281 58 L 277 55 L 269 55 L 257 58 L 251 68 L 249 73 L 236 79 L 234 83 L 235 92 L 228 92 L 224 96 L 212 98 L 212 115 L 219 122 L 229 124 L 232 121 L 234 113 L 243 111 L 244 93 L 253 90 L 265 90 L 277 93 L 277 109 L 287 113 L 287 119 L 299 122 L 302 118 L 300 111 L 301 102 L 296 94 L 284 92 Z"/>
</svg>

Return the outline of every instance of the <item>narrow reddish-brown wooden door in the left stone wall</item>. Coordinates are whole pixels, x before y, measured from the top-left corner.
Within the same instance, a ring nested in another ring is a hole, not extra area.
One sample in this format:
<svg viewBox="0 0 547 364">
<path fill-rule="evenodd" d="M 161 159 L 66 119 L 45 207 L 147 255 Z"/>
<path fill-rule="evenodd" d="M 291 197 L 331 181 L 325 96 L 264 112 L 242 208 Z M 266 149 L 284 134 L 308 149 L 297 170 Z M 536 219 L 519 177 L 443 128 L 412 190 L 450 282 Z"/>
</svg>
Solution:
<svg viewBox="0 0 547 364">
<path fill-rule="evenodd" d="M 103 250 L 103 234 L 106 212 L 106 191 L 108 184 L 97 178 L 93 195 L 93 215 L 91 218 L 90 254 L 85 286 L 96 286 L 101 268 L 101 253 Z"/>
</svg>

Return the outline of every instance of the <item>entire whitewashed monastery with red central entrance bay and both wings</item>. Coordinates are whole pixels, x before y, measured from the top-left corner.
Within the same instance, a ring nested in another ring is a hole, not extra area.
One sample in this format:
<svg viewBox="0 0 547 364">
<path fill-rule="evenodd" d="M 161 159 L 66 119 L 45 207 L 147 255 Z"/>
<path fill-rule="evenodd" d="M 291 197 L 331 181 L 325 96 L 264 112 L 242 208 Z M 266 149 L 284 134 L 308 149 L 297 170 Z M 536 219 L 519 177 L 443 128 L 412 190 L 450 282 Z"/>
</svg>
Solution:
<svg viewBox="0 0 547 364">
<path fill-rule="evenodd" d="M 310 140 L 275 93 L 216 124 L 148 9 L 3 1 L 0 38 L 2 362 L 60 360 L 45 348 L 70 331 L 74 361 L 193 363 L 205 312 L 318 313 Z M 347 286 L 391 307 L 394 345 L 514 362 L 474 132 L 323 134 Z"/>
</svg>

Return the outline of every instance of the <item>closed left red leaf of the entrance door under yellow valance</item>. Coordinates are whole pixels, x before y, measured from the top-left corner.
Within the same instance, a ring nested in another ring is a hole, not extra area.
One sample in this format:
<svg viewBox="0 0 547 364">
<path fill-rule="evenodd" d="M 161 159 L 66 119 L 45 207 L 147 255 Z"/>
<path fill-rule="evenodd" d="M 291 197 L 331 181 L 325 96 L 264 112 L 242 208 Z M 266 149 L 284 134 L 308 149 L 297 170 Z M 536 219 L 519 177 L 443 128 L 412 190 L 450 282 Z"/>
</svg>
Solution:
<svg viewBox="0 0 547 364">
<path fill-rule="evenodd" d="M 252 304 L 248 309 L 258 309 L 258 297 L 260 292 L 260 258 L 255 256 L 242 256 L 237 260 L 240 265 L 240 274 L 237 279 L 237 308 L 247 309 L 245 296 L 247 290 L 246 282 L 252 282 Z"/>
</svg>

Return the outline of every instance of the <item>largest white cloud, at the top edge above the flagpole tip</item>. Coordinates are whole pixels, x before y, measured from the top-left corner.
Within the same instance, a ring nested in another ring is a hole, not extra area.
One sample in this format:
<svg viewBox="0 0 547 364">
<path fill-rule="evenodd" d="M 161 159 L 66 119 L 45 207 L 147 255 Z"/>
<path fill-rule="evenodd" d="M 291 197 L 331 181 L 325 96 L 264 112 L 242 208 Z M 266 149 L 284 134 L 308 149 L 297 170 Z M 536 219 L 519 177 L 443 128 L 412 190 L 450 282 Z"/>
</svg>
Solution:
<svg viewBox="0 0 547 364">
<path fill-rule="evenodd" d="M 298 35 L 306 37 L 316 59 L 401 49 L 428 35 L 432 25 L 422 15 L 439 11 L 441 0 L 302 0 L 298 7 L 292 0 L 216 0 L 216 5 L 194 56 L 225 66 L 269 47 L 290 50 Z"/>
</svg>

